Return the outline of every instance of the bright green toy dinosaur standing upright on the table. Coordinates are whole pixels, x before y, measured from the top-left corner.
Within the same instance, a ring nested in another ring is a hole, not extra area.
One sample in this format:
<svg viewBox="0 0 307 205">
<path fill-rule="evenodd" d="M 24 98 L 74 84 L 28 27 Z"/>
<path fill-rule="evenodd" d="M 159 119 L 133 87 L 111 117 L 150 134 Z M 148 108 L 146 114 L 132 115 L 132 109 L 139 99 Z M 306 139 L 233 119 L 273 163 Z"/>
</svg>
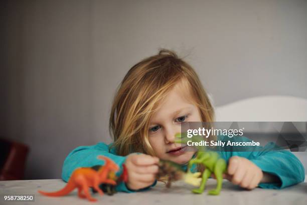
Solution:
<svg viewBox="0 0 307 205">
<path fill-rule="evenodd" d="M 204 140 L 201 136 L 193 136 L 192 138 L 186 138 L 181 136 L 181 133 L 178 133 L 175 135 L 176 138 L 180 138 L 179 140 L 176 140 L 177 143 L 186 144 L 189 140 L 192 140 L 194 142 L 200 142 L 201 140 Z M 226 161 L 219 156 L 217 152 L 214 151 L 206 151 L 204 146 L 200 146 L 200 148 L 197 151 L 197 155 L 195 158 L 191 159 L 189 161 L 188 165 L 188 174 L 191 175 L 191 166 L 193 164 L 202 164 L 206 167 L 205 171 L 202 173 L 202 181 L 199 186 L 199 188 L 195 188 L 192 190 L 193 193 L 203 193 L 207 179 L 209 176 L 214 173 L 216 180 L 217 180 L 217 186 L 215 189 L 209 190 L 208 194 L 211 195 L 218 195 L 220 194 L 221 188 L 222 188 L 222 182 L 223 182 L 223 173 L 227 170 L 227 163 Z M 197 174 L 196 174 L 197 175 Z M 189 181 L 186 181 L 189 183 Z"/>
</svg>

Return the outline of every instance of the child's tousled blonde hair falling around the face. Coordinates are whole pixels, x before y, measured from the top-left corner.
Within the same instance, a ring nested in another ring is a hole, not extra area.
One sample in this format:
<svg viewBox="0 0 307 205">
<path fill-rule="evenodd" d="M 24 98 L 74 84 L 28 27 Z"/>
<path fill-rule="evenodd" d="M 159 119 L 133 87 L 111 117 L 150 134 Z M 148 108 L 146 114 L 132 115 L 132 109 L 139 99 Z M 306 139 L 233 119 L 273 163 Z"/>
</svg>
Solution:
<svg viewBox="0 0 307 205">
<path fill-rule="evenodd" d="M 194 69 L 175 52 L 161 49 L 132 66 L 117 89 L 109 131 L 114 138 L 111 148 L 118 155 L 141 152 L 155 156 L 148 140 L 149 119 L 178 82 L 190 91 L 202 121 L 214 121 L 213 107 Z"/>
</svg>

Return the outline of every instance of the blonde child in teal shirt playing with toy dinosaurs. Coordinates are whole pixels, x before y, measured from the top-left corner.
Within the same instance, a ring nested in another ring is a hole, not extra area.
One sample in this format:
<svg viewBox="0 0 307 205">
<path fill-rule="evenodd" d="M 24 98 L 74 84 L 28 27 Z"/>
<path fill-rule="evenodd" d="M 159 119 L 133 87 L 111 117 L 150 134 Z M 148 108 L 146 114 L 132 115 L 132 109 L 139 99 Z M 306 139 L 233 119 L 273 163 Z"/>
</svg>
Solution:
<svg viewBox="0 0 307 205">
<path fill-rule="evenodd" d="M 213 107 L 194 69 L 163 49 L 135 64 L 122 80 L 109 122 L 114 143 L 73 150 L 64 161 L 62 178 L 68 181 L 77 167 L 103 164 L 96 156 L 104 155 L 127 167 L 128 181 L 118 184 L 117 191 L 153 186 L 159 159 L 186 169 L 194 156 L 195 152 L 175 143 L 181 123 L 189 121 L 213 122 Z M 283 188 L 304 181 L 302 164 L 288 151 L 221 152 L 221 157 L 228 162 L 224 177 L 246 189 Z"/>
</svg>

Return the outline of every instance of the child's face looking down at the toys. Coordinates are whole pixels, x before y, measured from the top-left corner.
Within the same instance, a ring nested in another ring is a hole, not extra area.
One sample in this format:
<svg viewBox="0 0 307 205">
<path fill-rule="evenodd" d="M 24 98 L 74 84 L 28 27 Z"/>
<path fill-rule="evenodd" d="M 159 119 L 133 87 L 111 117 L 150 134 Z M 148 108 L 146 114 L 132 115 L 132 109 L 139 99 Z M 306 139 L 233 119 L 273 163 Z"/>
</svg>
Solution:
<svg viewBox="0 0 307 205">
<path fill-rule="evenodd" d="M 181 122 L 201 122 L 199 109 L 181 94 L 184 90 L 175 86 L 161 102 L 160 109 L 149 122 L 149 143 L 156 155 L 179 164 L 187 163 L 195 151 L 185 151 L 186 145 L 175 143 L 175 134 L 181 132 Z M 190 98 L 191 99 L 191 98 Z M 180 150 L 176 150 L 183 147 Z"/>
</svg>

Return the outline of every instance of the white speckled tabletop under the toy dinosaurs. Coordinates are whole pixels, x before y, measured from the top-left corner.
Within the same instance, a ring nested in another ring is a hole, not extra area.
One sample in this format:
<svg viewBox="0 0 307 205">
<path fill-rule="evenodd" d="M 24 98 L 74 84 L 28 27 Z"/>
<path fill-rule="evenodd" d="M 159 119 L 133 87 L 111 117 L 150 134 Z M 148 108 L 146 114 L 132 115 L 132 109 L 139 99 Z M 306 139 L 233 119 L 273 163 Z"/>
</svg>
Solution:
<svg viewBox="0 0 307 205">
<path fill-rule="evenodd" d="M 0 204 L 307 204 L 307 181 L 281 190 L 256 188 L 248 191 L 224 180 L 223 189 L 218 196 L 207 194 L 209 189 L 215 187 L 216 181 L 214 179 L 208 180 L 207 188 L 203 194 L 192 193 L 193 186 L 182 181 L 173 183 L 170 189 L 167 189 L 162 182 L 158 182 L 155 187 L 142 192 L 119 192 L 113 196 L 92 194 L 93 197 L 98 199 L 94 203 L 80 199 L 77 196 L 77 189 L 62 197 L 48 197 L 37 192 L 38 189 L 44 191 L 59 190 L 65 184 L 61 179 L 0 181 L 1 197 L 4 194 L 13 193 L 35 194 L 34 202 L 4 201 L 2 198 Z"/>
</svg>

